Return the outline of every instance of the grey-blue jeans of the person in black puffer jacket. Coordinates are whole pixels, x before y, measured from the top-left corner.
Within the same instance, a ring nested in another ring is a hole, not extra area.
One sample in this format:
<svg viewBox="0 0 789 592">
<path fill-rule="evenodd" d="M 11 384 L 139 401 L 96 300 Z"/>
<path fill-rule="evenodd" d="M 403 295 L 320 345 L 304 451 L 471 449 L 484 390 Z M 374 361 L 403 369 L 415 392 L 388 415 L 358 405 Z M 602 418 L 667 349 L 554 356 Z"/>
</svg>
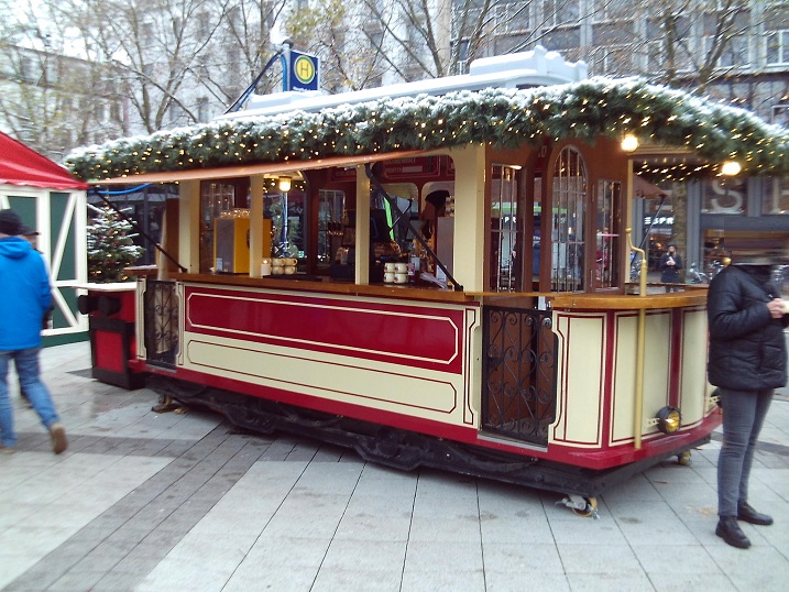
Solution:
<svg viewBox="0 0 789 592">
<path fill-rule="evenodd" d="M 772 388 L 721 388 L 723 446 L 717 458 L 717 515 L 736 516 L 737 504 L 748 501 L 748 478 L 756 440 L 772 401 Z"/>
</svg>

